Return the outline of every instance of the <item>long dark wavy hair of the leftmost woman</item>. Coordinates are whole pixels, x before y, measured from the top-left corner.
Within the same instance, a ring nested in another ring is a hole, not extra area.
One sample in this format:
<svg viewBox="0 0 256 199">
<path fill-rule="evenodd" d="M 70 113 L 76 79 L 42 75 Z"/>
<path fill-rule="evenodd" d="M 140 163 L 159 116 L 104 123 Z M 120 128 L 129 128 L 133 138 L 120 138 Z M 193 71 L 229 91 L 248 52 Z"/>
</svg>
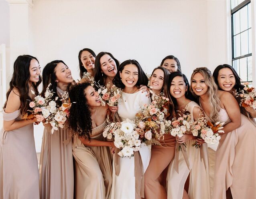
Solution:
<svg viewBox="0 0 256 199">
<path fill-rule="evenodd" d="M 24 115 L 26 111 L 30 109 L 29 102 L 32 101 L 32 99 L 28 95 L 29 94 L 28 81 L 30 78 L 30 72 L 29 72 L 30 62 L 33 59 L 37 60 L 37 58 L 31 55 L 20 55 L 15 60 L 13 65 L 12 79 L 10 81 L 10 88 L 6 93 L 6 102 L 4 103 L 4 108 L 5 108 L 10 92 L 12 92 L 14 88 L 16 88 L 19 92 L 19 94 L 17 95 L 20 97 L 20 113 L 22 115 Z M 37 83 L 34 83 L 34 82 L 32 83 L 32 87 L 34 89 L 36 96 L 39 95 L 38 86 L 39 84 L 41 84 L 41 82 L 42 82 L 42 77 L 41 75 L 39 75 L 39 81 Z"/>
</svg>

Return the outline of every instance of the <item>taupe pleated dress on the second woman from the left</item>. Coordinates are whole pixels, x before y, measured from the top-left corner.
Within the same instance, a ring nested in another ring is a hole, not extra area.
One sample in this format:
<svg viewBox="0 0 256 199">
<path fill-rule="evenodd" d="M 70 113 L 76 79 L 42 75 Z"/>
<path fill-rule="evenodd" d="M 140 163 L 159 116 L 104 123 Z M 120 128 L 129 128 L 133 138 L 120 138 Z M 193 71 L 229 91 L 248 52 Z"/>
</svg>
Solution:
<svg viewBox="0 0 256 199">
<path fill-rule="evenodd" d="M 61 95 L 60 89 L 57 90 Z M 63 92 L 64 93 L 64 92 Z M 45 126 L 39 165 L 41 199 L 71 199 L 74 193 L 72 136 L 67 127 Z"/>
</svg>

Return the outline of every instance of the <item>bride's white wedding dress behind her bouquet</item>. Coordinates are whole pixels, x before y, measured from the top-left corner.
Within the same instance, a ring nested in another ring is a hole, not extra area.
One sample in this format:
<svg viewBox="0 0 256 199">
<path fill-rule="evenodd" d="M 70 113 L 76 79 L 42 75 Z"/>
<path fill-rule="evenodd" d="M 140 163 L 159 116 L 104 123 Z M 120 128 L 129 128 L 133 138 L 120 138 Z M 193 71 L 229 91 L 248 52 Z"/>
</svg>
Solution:
<svg viewBox="0 0 256 199">
<path fill-rule="evenodd" d="M 122 101 L 118 105 L 118 114 L 122 121 L 125 119 L 135 119 L 135 114 L 139 112 L 144 104 L 150 104 L 150 98 L 146 97 L 146 92 L 141 91 L 134 94 L 122 93 Z M 140 155 L 145 173 L 150 157 L 151 145 L 142 144 Z M 111 199 L 133 199 L 135 198 L 135 177 L 134 177 L 134 157 L 120 157 L 120 173 L 117 176 L 115 164 L 113 163 L 113 182 Z M 144 185 L 143 185 L 144 186 Z"/>
</svg>

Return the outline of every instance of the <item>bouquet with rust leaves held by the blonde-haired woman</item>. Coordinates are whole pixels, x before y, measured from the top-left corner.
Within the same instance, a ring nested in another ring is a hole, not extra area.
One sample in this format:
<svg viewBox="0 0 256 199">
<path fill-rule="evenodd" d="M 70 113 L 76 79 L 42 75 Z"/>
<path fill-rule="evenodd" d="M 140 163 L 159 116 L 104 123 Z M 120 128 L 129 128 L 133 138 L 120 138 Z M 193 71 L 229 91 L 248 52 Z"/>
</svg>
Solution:
<svg viewBox="0 0 256 199">
<path fill-rule="evenodd" d="M 209 121 L 206 121 L 205 117 L 200 117 L 195 119 L 194 122 L 191 124 L 191 129 L 193 129 L 191 132 L 194 136 L 201 138 L 205 141 L 205 143 L 209 144 L 217 144 L 220 140 L 219 133 L 224 133 L 223 130 L 223 123 L 216 122 L 215 124 L 212 124 Z M 192 146 L 195 146 L 196 148 L 199 148 L 201 145 L 198 144 L 196 141 Z"/>
</svg>

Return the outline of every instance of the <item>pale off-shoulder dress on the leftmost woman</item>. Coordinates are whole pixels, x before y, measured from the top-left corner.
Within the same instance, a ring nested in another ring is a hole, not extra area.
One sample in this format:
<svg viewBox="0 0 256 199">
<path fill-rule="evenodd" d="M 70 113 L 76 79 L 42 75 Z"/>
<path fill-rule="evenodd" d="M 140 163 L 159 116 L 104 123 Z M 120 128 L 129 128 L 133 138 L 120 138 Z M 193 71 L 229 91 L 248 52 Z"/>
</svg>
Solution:
<svg viewBox="0 0 256 199">
<path fill-rule="evenodd" d="M 20 120 L 20 109 L 3 112 L 4 121 Z M 39 171 L 33 123 L 0 131 L 0 198 L 38 199 Z"/>
</svg>

